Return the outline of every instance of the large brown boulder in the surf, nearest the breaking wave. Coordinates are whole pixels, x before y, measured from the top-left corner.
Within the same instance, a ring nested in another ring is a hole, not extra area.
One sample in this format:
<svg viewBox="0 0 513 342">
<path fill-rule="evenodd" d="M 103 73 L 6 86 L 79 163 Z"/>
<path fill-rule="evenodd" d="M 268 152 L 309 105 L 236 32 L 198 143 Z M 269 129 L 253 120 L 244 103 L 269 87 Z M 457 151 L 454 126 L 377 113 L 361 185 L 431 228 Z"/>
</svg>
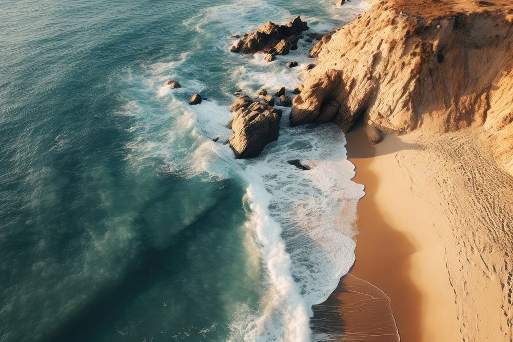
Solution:
<svg viewBox="0 0 513 342">
<path fill-rule="evenodd" d="M 229 124 L 233 134 L 228 142 L 237 158 L 256 157 L 267 144 L 278 139 L 281 110 L 244 95 L 233 103 L 230 111 L 235 115 Z"/>
</svg>

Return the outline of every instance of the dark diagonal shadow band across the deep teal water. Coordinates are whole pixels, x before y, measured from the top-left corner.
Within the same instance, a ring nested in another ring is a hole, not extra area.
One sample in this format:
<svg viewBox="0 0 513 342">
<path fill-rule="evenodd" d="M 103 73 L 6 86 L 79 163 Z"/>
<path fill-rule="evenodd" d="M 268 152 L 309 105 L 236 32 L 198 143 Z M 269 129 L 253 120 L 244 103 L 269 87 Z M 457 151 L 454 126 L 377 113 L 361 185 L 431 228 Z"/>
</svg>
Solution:
<svg viewBox="0 0 513 342">
<path fill-rule="evenodd" d="M 138 231 L 142 235 L 142 247 L 132 258 L 132 265 L 114 283 L 104 285 L 96 291 L 88 303 L 61 321 L 59 326 L 42 336 L 40 341 L 92 341 L 97 336 L 108 336 L 113 327 L 123 319 L 126 310 L 133 302 L 146 293 L 161 278 L 177 277 L 185 272 L 187 250 L 193 241 L 209 227 L 211 222 L 226 222 L 233 213 L 225 210 L 226 196 L 221 195 L 218 201 L 208 207 L 180 232 L 172 236 L 172 242 L 164 248 L 155 248 L 150 241 L 150 225 L 145 214 L 153 205 L 168 198 L 167 191 L 148 201 L 138 217 L 134 219 Z M 242 223 L 242 221 L 241 221 Z"/>
</svg>

